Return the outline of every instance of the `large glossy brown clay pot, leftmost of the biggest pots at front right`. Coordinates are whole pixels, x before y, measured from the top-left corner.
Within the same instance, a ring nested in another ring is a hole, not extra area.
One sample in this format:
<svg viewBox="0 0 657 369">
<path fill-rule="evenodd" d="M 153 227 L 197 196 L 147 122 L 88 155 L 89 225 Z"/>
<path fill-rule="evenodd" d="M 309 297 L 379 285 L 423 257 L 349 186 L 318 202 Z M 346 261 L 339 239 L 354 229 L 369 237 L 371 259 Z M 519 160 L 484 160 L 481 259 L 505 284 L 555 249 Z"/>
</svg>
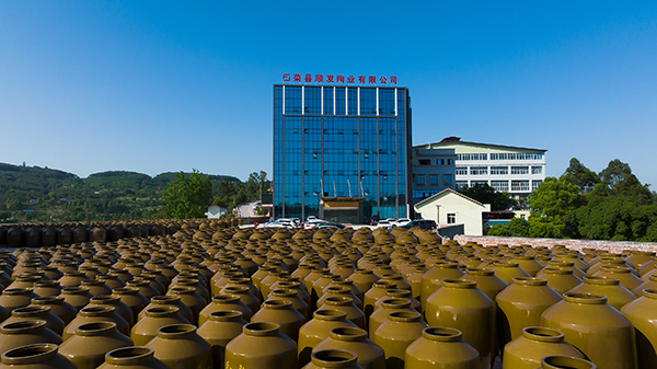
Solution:
<svg viewBox="0 0 657 369">
<path fill-rule="evenodd" d="M 480 353 L 482 369 L 495 359 L 495 310 L 493 301 L 473 280 L 446 279 L 427 300 L 425 316 L 431 326 L 457 328 Z"/>
</svg>

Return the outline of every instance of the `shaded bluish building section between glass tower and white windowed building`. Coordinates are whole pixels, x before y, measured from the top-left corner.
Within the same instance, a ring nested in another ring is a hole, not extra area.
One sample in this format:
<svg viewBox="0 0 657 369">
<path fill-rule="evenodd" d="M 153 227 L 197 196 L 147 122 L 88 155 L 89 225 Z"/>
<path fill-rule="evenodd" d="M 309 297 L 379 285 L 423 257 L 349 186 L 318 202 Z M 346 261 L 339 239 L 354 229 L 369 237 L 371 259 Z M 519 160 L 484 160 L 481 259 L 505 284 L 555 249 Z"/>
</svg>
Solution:
<svg viewBox="0 0 657 369">
<path fill-rule="evenodd" d="M 446 188 L 454 189 L 457 154 L 453 149 L 414 148 L 412 152 L 413 204 Z"/>
</svg>

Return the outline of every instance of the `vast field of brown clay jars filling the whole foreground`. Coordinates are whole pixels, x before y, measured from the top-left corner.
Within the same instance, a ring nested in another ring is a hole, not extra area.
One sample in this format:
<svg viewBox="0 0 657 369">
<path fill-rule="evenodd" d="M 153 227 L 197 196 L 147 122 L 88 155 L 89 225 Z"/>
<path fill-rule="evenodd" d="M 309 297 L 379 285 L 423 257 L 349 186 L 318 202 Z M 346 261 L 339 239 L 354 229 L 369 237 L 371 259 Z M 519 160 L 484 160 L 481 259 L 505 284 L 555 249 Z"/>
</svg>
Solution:
<svg viewBox="0 0 657 369">
<path fill-rule="evenodd" d="M 0 367 L 657 368 L 653 253 L 161 226 L 0 253 Z"/>
</svg>

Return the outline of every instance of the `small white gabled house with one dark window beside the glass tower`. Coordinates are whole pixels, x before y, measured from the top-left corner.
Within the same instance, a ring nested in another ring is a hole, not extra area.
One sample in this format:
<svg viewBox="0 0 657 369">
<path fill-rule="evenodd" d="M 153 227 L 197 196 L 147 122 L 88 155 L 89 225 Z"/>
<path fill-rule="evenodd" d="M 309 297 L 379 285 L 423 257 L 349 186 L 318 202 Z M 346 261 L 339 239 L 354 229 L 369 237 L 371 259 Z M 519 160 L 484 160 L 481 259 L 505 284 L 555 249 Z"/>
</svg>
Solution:
<svg viewBox="0 0 657 369">
<path fill-rule="evenodd" d="M 423 219 L 431 219 L 439 226 L 463 224 L 465 234 L 483 235 L 482 212 L 491 211 L 491 204 L 482 204 L 446 188 L 415 204 L 414 209 Z"/>
</svg>

